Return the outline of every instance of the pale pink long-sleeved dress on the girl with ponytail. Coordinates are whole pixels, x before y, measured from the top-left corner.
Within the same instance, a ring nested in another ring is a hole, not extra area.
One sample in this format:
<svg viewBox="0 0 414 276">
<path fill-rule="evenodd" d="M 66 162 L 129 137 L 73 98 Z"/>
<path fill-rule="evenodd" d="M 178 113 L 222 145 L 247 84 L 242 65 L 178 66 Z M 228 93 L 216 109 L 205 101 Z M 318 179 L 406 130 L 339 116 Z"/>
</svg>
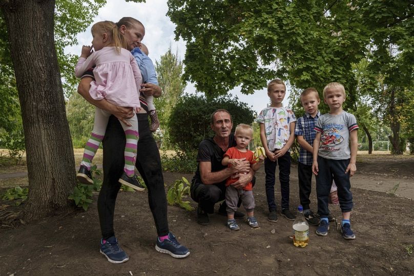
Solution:
<svg viewBox="0 0 414 276">
<path fill-rule="evenodd" d="M 140 107 L 142 76 L 130 51 L 121 48 L 120 54 L 117 54 L 115 47 L 103 47 L 88 59 L 81 57 L 75 68 L 76 77 L 81 77 L 93 66 L 96 66 L 93 69 L 95 80 L 89 90 L 93 99 L 105 98 L 118 107 Z"/>
</svg>

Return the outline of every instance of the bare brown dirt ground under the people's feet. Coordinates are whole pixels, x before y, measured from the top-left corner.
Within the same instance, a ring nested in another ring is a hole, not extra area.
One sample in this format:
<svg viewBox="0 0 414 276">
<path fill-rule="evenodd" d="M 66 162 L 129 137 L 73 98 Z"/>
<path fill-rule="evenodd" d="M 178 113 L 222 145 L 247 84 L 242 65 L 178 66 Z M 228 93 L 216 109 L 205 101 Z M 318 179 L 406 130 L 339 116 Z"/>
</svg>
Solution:
<svg viewBox="0 0 414 276">
<path fill-rule="evenodd" d="M 267 221 L 261 168 L 254 190 L 258 229 L 240 220 L 241 230 L 231 231 L 224 226 L 225 217 L 218 214 L 210 216 L 210 225 L 201 226 L 196 223 L 195 210 L 169 206 L 170 230 L 190 248 L 188 258 L 173 259 L 155 250 L 156 230 L 146 192 L 120 192 L 115 231 L 130 260 L 109 263 L 99 253 L 96 194 L 87 212 L 15 229 L 1 228 L 0 275 L 414 274 L 414 253 L 409 254 L 414 250 L 414 157 L 360 155 L 357 168 L 357 175 L 351 179 L 355 204 L 351 223 L 357 236 L 353 241 L 342 239 L 335 222 L 331 222 L 327 237 L 316 236 L 316 227 L 310 226 L 308 246 L 295 247 L 289 239 L 291 221 L 281 216 L 277 223 Z M 192 178 L 192 174 L 164 173 L 165 184 L 182 176 Z M 280 204 L 279 184 L 275 187 Z M 316 211 L 314 191 L 311 207 Z M 0 201 L 0 208 L 5 204 L 10 202 Z M 196 207 L 194 202 L 192 205 Z M 297 205 L 297 167 L 292 166 L 291 210 Z M 340 218 L 339 206 L 331 205 L 330 209 Z"/>
</svg>

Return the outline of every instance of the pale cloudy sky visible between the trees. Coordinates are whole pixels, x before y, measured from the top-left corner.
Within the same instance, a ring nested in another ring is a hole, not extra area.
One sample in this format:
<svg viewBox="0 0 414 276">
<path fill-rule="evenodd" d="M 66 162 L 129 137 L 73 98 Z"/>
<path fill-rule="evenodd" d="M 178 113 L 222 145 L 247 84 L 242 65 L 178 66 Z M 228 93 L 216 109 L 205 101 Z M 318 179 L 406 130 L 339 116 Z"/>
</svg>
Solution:
<svg viewBox="0 0 414 276">
<path fill-rule="evenodd" d="M 160 56 L 168 51 L 169 47 L 173 52 L 177 52 L 179 58 L 184 59 L 185 43 L 180 38 L 175 40 L 175 24 L 171 22 L 167 14 L 167 0 L 147 0 L 147 3 L 125 2 L 125 0 L 107 0 L 105 7 L 99 9 L 98 15 L 91 26 L 99 21 L 111 20 L 117 22 L 121 17 L 134 17 L 145 27 L 145 36 L 142 43 L 149 49 L 149 57 L 153 60 L 159 60 Z M 77 35 L 78 46 L 66 47 L 66 53 L 80 55 L 82 45 L 91 45 L 92 35 L 91 26 L 83 33 Z M 187 84 L 185 92 L 196 93 L 192 83 Z M 229 95 L 236 95 L 240 101 L 246 102 L 252 106 L 252 109 L 259 113 L 270 103 L 267 97 L 266 89 L 255 91 L 254 94 L 244 95 L 240 93 L 240 88 L 229 92 Z M 286 97 L 283 105 L 287 106 L 289 101 L 289 87 L 287 87 Z"/>
</svg>

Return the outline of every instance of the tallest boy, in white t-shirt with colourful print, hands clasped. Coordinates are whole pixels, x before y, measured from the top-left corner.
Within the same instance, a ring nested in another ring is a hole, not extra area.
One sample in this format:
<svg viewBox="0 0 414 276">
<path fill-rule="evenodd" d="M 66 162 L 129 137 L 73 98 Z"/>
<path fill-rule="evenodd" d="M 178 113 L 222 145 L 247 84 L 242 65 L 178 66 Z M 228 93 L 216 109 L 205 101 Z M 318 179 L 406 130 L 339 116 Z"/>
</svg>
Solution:
<svg viewBox="0 0 414 276">
<path fill-rule="evenodd" d="M 282 195 L 281 215 L 288 220 L 295 220 L 289 211 L 289 175 L 291 174 L 290 148 L 295 140 L 296 117 L 291 109 L 284 108 L 282 101 L 286 95 L 286 86 L 280 79 L 274 79 L 267 85 L 267 96 L 271 99 L 270 107 L 263 109 L 256 121 L 260 123 L 260 139 L 266 156 L 264 172 L 269 215 L 267 219 L 277 222 L 275 203 L 275 171 L 279 163 L 280 191 Z"/>
</svg>

